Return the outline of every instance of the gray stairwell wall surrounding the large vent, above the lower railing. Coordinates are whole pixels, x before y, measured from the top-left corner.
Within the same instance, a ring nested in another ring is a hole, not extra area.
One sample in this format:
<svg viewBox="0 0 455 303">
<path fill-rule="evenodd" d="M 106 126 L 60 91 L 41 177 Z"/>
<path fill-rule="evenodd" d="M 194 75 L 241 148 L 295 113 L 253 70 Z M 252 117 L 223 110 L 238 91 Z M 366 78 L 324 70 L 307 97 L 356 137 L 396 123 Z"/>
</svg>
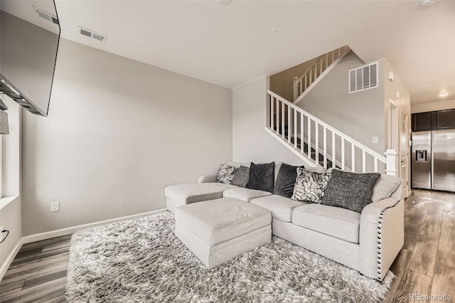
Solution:
<svg viewBox="0 0 455 303">
<path fill-rule="evenodd" d="M 384 154 L 384 78 L 381 76 L 384 66 L 379 66 L 379 87 L 352 94 L 348 92 L 348 70 L 364 64 L 351 50 L 298 105 L 379 154 Z M 378 144 L 371 143 L 373 136 L 378 137 Z"/>
</svg>

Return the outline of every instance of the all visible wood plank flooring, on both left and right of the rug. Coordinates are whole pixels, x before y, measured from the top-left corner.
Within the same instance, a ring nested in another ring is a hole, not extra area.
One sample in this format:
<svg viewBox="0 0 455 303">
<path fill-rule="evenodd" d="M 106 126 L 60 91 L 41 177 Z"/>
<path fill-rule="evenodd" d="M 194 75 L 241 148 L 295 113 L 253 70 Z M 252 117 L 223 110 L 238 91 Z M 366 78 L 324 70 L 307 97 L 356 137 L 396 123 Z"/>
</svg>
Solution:
<svg viewBox="0 0 455 303">
<path fill-rule="evenodd" d="M 70 235 L 23 245 L 1 280 L 0 302 L 65 302 L 69 245 Z M 414 190 L 406 199 L 405 246 L 391 270 L 397 278 L 384 302 L 455 302 L 454 193 Z"/>
</svg>

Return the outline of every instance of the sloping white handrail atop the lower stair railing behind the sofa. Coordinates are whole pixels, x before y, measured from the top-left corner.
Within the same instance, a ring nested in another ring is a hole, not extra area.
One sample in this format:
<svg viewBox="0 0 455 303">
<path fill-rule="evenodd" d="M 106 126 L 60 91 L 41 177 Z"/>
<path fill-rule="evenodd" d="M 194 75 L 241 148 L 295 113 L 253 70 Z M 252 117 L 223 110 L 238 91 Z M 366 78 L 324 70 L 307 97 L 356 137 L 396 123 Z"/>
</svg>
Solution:
<svg viewBox="0 0 455 303">
<path fill-rule="evenodd" d="M 336 129 L 334 127 L 331 127 L 331 125 L 327 124 L 326 122 L 323 122 L 321 119 L 314 117 L 314 115 L 311 115 L 309 112 L 306 112 L 306 110 L 301 109 L 301 107 L 298 107 L 298 106 L 294 105 L 292 102 L 289 102 L 288 100 L 284 99 L 284 97 L 281 97 L 281 96 L 275 94 L 274 92 L 272 92 L 272 90 L 267 90 L 267 94 L 276 98 L 280 102 L 283 102 L 285 105 L 287 105 L 288 107 L 291 107 L 293 110 L 296 110 L 296 112 L 299 112 L 299 113 L 305 115 L 306 117 L 309 117 L 309 119 L 312 119 L 313 121 L 317 122 L 322 127 L 325 127 L 329 131 L 338 135 L 338 137 L 343 138 L 344 140 L 348 141 L 350 144 L 353 144 L 353 146 L 358 147 L 362 151 L 365 151 L 366 153 L 375 157 L 376 159 L 378 159 L 378 161 L 381 161 L 383 164 L 387 164 L 386 157 L 382 156 L 377 151 L 370 149 L 370 147 L 366 147 L 364 144 L 358 142 L 357 140 L 353 139 L 352 137 L 349 137 L 347 134 L 339 131 L 338 129 Z"/>
</svg>

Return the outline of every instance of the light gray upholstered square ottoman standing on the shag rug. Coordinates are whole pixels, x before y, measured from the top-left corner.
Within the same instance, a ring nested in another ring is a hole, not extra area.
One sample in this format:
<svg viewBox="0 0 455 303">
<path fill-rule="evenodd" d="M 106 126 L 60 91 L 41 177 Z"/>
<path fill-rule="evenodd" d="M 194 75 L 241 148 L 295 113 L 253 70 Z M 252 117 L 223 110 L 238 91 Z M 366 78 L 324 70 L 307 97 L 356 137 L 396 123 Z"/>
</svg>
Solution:
<svg viewBox="0 0 455 303">
<path fill-rule="evenodd" d="M 177 237 L 208 268 L 272 242 L 272 213 L 260 206 L 219 198 L 176 208 Z"/>
</svg>

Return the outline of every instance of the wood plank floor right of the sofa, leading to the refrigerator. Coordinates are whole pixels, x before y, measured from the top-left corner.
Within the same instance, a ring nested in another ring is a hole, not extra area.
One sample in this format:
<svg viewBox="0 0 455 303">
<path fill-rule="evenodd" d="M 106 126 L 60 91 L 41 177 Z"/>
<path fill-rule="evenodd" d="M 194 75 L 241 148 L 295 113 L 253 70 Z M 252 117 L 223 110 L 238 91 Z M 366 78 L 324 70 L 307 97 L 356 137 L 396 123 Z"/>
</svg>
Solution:
<svg viewBox="0 0 455 303">
<path fill-rule="evenodd" d="M 444 295 L 455 302 L 454 193 L 412 191 L 405 200 L 405 245 L 390 270 L 397 278 L 384 302 L 444 301 L 437 298 Z"/>
</svg>

